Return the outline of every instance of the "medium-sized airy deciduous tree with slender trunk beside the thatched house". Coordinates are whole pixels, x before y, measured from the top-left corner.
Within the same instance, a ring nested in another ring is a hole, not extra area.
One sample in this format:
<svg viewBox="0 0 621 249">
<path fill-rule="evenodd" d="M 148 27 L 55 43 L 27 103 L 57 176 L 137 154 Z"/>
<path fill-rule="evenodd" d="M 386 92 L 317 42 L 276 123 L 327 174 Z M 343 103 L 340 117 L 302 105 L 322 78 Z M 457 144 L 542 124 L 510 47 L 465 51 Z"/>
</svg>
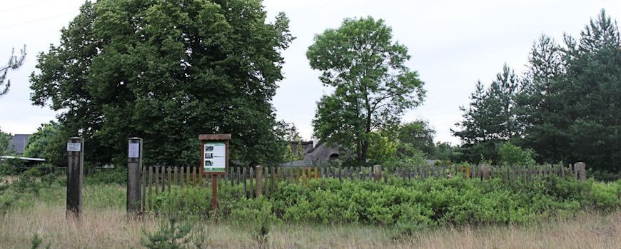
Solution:
<svg viewBox="0 0 621 249">
<path fill-rule="evenodd" d="M 322 71 L 324 86 L 334 88 L 317 104 L 315 136 L 368 156 L 370 133 L 393 126 L 405 110 L 425 96 L 423 81 L 405 62 L 408 49 L 393 41 L 383 20 L 345 19 L 338 29 L 315 36 L 306 57 Z"/>
</svg>

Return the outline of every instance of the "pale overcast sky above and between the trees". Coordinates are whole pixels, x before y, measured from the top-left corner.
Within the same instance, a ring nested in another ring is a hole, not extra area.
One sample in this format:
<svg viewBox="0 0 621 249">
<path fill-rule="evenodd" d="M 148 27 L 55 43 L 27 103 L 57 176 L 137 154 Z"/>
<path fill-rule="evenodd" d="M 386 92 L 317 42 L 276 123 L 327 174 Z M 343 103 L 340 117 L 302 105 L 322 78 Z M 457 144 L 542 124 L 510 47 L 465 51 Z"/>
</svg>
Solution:
<svg viewBox="0 0 621 249">
<path fill-rule="evenodd" d="M 32 106 L 29 75 L 36 54 L 58 44 L 60 29 L 79 12 L 81 0 L 0 0 L 0 66 L 15 47 L 26 44 L 28 56 L 18 71 L 9 71 L 9 93 L 0 97 L 0 129 L 33 133 L 56 119 L 49 108 Z M 393 28 L 393 39 L 409 49 L 410 69 L 425 81 L 422 106 L 403 119 L 423 119 L 435 128 L 436 141 L 458 144 L 450 128 L 461 120 L 459 106 L 480 80 L 488 84 L 507 63 L 521 72 L 532 41 L 547 34 L 560 41 L 563 32 L 577 35 L 590 18 L 606 9 L 621 17 L 621 1 L 343 1 L 266 0 L 270 20 L 284 11 L 296 36 L 284 51 L 285 79 L 273 98 L 278 119 L 293 122 L 301 135 L 313 133 L 315 103 L 327 92 L 306 59 L 313 36 L 338 28 L 345 17 L 373 16 Z"/>
</svg>

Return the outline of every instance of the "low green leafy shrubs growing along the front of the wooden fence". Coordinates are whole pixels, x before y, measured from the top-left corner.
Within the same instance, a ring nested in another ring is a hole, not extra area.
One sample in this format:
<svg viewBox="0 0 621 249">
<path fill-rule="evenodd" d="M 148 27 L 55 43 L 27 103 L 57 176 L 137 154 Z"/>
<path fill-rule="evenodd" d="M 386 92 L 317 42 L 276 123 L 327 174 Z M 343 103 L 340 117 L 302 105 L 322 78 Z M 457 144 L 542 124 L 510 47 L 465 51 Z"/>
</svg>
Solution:
<svg viewBox="0 0 621 249">
<path fill-rule="evenodd" d="M 462 178 L 389 183 L 320 179 L 306 185 L 280 183 L 265 198 L 239 196 L 240 186 L 218 191 L 218 215 L 249 220 L 271 214 L 275 220 L 317 223 L 445 224 L 527 223 L 582 209 L 621 206 L 621 181 L 600 183 L 549 177 L 530 182 Z M 158 195 L 156 212 L 175 210 L 210 215 L 211 191 L 173 190 Z"/>
</svg>

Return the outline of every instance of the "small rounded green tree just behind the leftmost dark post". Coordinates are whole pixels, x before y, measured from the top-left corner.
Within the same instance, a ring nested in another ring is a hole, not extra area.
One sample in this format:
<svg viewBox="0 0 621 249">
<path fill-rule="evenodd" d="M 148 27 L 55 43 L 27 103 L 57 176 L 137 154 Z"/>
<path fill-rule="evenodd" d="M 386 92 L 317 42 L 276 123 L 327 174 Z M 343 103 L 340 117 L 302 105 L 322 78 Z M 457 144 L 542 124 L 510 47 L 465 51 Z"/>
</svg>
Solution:
<svg viewBox="0 0 621 249">
<path fill-rule="evenodd" d="M 63 156 L 64 151 L 59 151 L 59 141 L 64 146 L 66 137 L 61 136 L 61 125 L 54 121 L 41 124 L 36 132 L 28 138 L 24 156 L 30 158 L 44 158 L 48 163 L 62 166 L 66 162 Z"/>
</svg>

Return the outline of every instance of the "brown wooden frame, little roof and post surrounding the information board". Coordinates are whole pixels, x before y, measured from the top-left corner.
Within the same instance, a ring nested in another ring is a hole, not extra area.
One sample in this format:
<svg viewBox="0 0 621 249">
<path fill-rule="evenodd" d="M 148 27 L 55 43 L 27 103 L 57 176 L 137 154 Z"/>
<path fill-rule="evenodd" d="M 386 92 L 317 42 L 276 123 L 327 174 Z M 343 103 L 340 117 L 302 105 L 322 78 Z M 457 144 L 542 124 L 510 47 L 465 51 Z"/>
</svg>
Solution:
<svg viewBox="0 0 621 249">
<path fill-rule="evenodd" d="M 201 174 L 211 175 L 211 207 L 213 208 L 213 217 L 216 220 L 218 211 L 218 175 L 226 175 L 228 173 L 228 141 L 231 140 L 231 134 L 200 134 L 198 140 L 201 141 Z M 224 143 L 225 146 L 225 165 L 224 171 L 205 171 L 205 143 Z"/>
</svg>

